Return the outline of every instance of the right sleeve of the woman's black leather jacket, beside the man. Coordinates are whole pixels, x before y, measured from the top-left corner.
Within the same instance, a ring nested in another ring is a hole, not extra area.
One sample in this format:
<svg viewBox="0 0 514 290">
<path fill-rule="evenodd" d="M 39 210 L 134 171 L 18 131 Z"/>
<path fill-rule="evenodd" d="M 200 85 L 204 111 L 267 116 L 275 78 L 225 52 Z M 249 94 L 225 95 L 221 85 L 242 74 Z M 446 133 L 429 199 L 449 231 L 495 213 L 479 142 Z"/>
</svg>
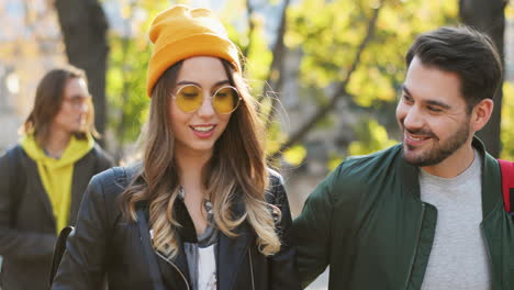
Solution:
<svg viewBox="0 0 514 290">
<path fill-rule="evenodd" d="M 271 290 L 293 290 L 301 289 L 298 278 L 298 269 L 295 265 L 295 250 L 291 245 L 291 211 L 289 201 L 280 177 L 273 177 L 272 185 L 275 191 L 275 205 L 281 211 L 281 217 L 278 222 L 277 230 L 279 238 L 282 243 L 280 252 L 275 254 L 270 259 L 270 288 Z"/>
</svg>

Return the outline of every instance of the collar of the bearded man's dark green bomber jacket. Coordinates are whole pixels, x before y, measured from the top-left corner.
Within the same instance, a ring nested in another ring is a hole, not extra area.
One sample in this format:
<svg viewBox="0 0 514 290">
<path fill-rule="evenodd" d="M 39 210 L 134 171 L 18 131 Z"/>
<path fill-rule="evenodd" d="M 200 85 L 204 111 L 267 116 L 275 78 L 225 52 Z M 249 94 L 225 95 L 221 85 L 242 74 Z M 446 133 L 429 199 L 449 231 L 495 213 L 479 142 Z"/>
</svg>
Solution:
<svg viewBox="0 0 514 290">
<path fill-rule="evenodd" d="M 473 136 L 472 146 L 482 158 L 482 217 L 485 219 L 501 202 L 501 175 L 496 159 L 485 152 L 482 141 Z M 420 199 L 420 168 L 407 164 L 403 159 L 403 144 L 396 145 L 395 150 L 396 166 L 403 178 L 405 190 L 416 199 Z"/>
</svg>

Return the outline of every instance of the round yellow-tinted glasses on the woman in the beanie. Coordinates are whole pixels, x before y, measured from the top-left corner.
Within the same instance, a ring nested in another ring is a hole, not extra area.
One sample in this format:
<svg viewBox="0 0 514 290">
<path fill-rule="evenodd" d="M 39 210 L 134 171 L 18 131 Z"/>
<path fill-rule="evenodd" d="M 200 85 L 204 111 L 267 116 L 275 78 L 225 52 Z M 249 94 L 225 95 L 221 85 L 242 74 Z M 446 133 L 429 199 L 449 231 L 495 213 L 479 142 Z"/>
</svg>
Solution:
<svg viewBox="0 0 514 290">
<path fill-rule="evenodd" d="M 195 85 L 186 85 L 174 96 L 177 107 L 185 113 L 193 113 L 203 103 L 203 90 Z M 219 88 L 212 96 L 212 107 L 219 114 L 230 114 L 239 105 L 241 97 L 237 89 L 231 86 Z"/>
</svg>

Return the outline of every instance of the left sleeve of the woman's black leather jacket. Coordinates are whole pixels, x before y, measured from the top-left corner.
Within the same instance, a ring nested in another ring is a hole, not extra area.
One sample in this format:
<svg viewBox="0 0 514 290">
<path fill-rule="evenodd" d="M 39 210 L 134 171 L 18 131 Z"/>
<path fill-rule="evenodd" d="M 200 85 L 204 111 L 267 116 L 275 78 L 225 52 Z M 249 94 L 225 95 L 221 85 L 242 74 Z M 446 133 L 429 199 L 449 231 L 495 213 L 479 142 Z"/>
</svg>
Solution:
<svg viewBox="0 0 514 290">
<path fill-rule="evenodd" d="M 110 182 L 111 178 L 113 179 L 113 175 L 110 171 L 97 175 L 86 189 L 75 234 L 68 237 L 52 289 L 102 289 L 110 228 L 104 183 Z"/>
</svg>

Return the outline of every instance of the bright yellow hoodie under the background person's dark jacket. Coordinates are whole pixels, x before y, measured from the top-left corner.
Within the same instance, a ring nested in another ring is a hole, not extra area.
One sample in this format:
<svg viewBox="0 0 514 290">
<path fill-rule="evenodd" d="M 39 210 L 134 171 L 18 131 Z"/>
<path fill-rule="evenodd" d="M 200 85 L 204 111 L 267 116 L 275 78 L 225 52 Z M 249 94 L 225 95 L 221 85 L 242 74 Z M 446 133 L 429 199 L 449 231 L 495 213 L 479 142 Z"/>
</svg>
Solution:
<svg viewBox="0 0 514 290">
<path fill-rule="evenodd" d="M 89 134 L 83 141 L 71 136 L 59 159 L 47 156 L 34 140 L 33 134 L 24 135 L 21 145 L 37 165 L 37 171 L 52 203 L 57 223 L 56 230 L 59 233 L 69 219 L 75 163 L 92 149 L 94 140 Z"/>
</svg>

